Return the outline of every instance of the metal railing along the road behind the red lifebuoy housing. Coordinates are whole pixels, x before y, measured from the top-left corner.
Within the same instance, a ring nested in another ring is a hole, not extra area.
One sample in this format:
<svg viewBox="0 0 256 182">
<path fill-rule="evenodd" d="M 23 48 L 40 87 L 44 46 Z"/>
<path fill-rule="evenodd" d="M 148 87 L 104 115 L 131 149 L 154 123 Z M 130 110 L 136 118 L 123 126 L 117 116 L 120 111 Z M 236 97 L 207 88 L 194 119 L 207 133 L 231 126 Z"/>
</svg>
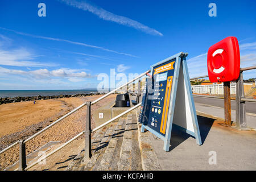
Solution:
<svg viewBox="0 0 256 182">
<path fill-rule="evenodd" d="M 251 69 L 256 69 L 256 66 L 240 68 L 240 76 L 236 80 L 236 127 L 238 129 L 246 129 L 247 127 L 245 102 L 256 102 L 256 99 L 245 98 L 245 91 L 243 89 L 243 71 L 248 71 Z M 195 80 L 198 78 L 205 78 L 205 77 L 208 77 L 208 75 L 193 77 L 193 78 L 190 78 L 190 80 Z M 198 94 L 193 94 L 193 96 L 224 99 L 223 97 L 218 97 L 218 96 L 203 96 Z M 226 105 L 224 104 L 224 107 L 225 106 Z"/>
</svg>

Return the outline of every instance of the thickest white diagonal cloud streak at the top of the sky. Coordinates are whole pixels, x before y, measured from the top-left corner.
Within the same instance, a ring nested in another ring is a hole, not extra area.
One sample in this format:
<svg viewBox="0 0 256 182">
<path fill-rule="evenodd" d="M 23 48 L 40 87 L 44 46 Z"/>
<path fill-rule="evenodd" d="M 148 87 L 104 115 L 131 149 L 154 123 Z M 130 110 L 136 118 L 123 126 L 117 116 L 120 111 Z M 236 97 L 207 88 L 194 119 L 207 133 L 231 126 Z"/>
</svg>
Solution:
<svg viewBox="0 0 256 182">
<path fill-rule="evenodd" d="M 115 15 L 107 10 L 102 9 L 101 7 L 98 7 L 96 5 L 92 5 L 91 3 L 88 3 L 86 1 L 75 1 L 75 0 L 60 0 L 67 5 L 76 7 L 77 9 L 81 9 L 84 11 L 89 11 L 90 13 L 93 13 L 97 15 L 99 18 L 115 22 L 118 24 L 122 24 L 127 27 L 133 27 L 137 30 L 140 30 L 142 32 L 145 32 L 147 34 L 151 35 L 157 35 L 157 36 L 163 36 L 162 33 L 159 31 L 156 31 L 154 28 L 150 28 L 142 23 L 139 23 L 133 19 L 126 18 L 125 16 Z"/>
</svg>

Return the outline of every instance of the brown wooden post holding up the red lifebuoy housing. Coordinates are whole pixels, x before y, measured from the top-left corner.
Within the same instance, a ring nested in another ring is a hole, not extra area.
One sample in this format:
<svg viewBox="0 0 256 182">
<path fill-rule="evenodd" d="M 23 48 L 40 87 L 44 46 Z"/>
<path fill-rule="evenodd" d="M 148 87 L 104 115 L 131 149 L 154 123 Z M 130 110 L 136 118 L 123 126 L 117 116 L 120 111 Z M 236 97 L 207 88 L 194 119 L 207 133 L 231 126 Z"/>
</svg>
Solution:
<svg viewBox="0 0 256 182">
<path fill-rule="evenodd" d="M 231 102 L 230 102 L 230 82 L 224 82 L 224 109 L 225 109 L 225 125 L 231 126 Z"/>
</svg>

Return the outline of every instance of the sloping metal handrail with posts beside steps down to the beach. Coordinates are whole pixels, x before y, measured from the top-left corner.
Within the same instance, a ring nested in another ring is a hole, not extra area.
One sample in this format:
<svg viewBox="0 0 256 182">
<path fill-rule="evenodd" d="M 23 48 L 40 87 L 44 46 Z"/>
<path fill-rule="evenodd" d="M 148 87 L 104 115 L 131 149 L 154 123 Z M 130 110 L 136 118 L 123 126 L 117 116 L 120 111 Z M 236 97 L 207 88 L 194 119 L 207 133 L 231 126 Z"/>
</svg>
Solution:
<svg viewBox="0 0 256 182">
<path fill-rule="evenodd" d="M 88 158 L 90 158 L 90 156 L 92 155 L 92 151 L 91 151 L 91 133 L 94 132 L 94 131 L 97 131 L 99 129 L 101 129 L 102 127 L 108 125 L 109 123 L 115 121 L 115 119 L 118 119 L 120 117 L 122 117 L 123 115 L 129 113 L 130 111 L 136 109 L 137 107 L 141 106 L 141 103 L 131 107 L 130 109 L 124 111 L 123 113 L 117 115 L 116 117 L 110 119 L 109 121 L 103 123 L 102 125 L 96 127 L 95 129 L 91 130 L 90 129 L 90 125 L 91 125 L 91 122 L 90 122 L 90 106 L 93 105 L 93 104 L 96 104 L 97 102 L 101 101 L 102 99 L 110 96 L 110 94 L 113 94 L 115 93 L 117 90 L 123 88 L 124 86 L 127 86 L 129 84 L 131 84 L 132 82 L 134 82 L 135 80 L 138 80 L 139 78 L 147 75 L 147 73 L 150 73 L 151 71 L 148 70 L 144 73 L 142 73 L 141 75 L 135 77 L 133 80 L 130 80 L 128 81 L 126 84 L 123 84 L 121 86 L 119 86 L 118 88 L 110 91 L 109 93 L 105 94 L 104 96 L 98 98 L 97 100 L 93 101 L 93 102 L 85 102 L 84 104 L 76 107 L 76 109 L 73 109 L 72 111 L 70 111 L 68 114 L 65 114 L 63 117 L 57 119 L 55 122 L 53 122 L 51 125 L 45 127 L 43 130 L 39 131 L 38 133 L 32 135 L 31 137 L 27 138 L 26 140 L 20 140 L 20 141 L 17 141 L 13 144 L 11 144 L 9 147 L 6 147 L 5 149 L 3 149 L 2 151 L 0 151 L 0 154 L 2 154 L 3 152 L 9 150 L 10 148 L 16 146 L 16 144 L 20 144 L 20 151 L 19 151 L 19 168 L 15 169 L 14 171 L 24 171 L 24 170 L 27 170 L 27 169 L 30 169 L 31 167 L 35 166 L 36 164 L 38 164 L 40 161 L 48 158 L 49 156 L 51 156 L 52 154 L 55 154 L 55 152 L 61 150 L 61 148 L 67 146 L 69 143 L 73 142 L 73 140 L 79 138 L 82 134 L 85 134 L 86 135 L 86 139 L 85 139 L 85 156 L 87 156 Z M 138 84 L 139 85 L 139 84 Z M 141 88 L 139 88 L 141 89 Z M 141 92 L 139 92 L 141 93 Z M 67 118 L 69 115 L 75 113 L 77 110 L 81 109 L 82 107 L 84 106 L 87 106 L 87 115 L 86 115 L 86 130 L 82 131 L 81 133 L 79 133 L 78 135 L 76 135 L 76 137 L 73 137 L 72 139 L 68 140 L 68 142 L 64 143 L 62 146 L 56 148 L 55 150 L 53 150 L 52 152 L 50 152 L 49 154 L 47 154 L 46 156 L 44 156 L 44 158 L 40 158 L 40 160 L 36 161 L 35 163 L 32 163 L 30 166 L 27 166 L 26 165 L 26 143 L 35 138 L 36 136 L 38 136 L 39 134 L 43 133 L 44 131 L 48 130 L 49 128 L 51 128 L 53 125 L 56 125 L 56 123 L 62 121 L 64 118 Z M 86 147 L 87 146 L 87 147 Z M 88 155 L 86 155 L 86 151 L 88 153 Z"/>
</svg>

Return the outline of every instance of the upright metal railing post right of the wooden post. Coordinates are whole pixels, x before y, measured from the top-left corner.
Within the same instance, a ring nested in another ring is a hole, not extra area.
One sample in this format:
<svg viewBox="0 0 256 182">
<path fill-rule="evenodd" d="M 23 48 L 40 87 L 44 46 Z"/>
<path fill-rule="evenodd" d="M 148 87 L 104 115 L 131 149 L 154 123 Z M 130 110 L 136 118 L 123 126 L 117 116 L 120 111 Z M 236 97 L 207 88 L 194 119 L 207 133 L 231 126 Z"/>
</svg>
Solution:
<svg viewBox="0 0 256 182">
<path fill-rule="evenodd" d="M 236 85 L 236 127 L 238 129 L 246 129 L 246 111 L 245 111 L 245 101 L 241 99 L 245 97 L 245 92 L 243 90 L 243 72 L 240 72 L 240 76 L 237 79 Z"/>
</svg>

